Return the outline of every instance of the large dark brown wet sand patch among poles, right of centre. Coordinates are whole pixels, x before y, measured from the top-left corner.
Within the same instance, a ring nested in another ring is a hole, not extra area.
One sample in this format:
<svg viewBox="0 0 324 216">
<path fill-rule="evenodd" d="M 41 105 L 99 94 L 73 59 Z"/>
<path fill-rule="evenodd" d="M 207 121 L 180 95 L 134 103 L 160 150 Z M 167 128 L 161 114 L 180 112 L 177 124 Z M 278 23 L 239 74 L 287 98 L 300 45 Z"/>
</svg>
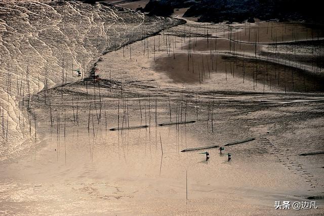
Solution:
<svg viewBox="0 0 324 216">
<path fill-rule="evenodd" d="M 315 78 L 305 74 L 303 70 L 294 67 L 286 67 L 281 64 L 255 60 L 250 58 L 217 55 L 210 58 L 209 55 L 177 54 L 177 58 L 164 57 L 156 61 L 154 69 L 165 72 L 176 83 L 198 83 L 207 80 L 222 79 L 218 85 L 227 85 L 230 79 L 240 79 L 241 84 L 246 80 L 253 80 L 255 88 L 257 85 L 264 86 L 264 91 L 271 88 L 286 92 L 322 92 L 322 78 Z M 244 80 L 245 79 L 245 80 Z M 216 84 L 216 83 L 215 83 Z M 271 86 L 271 88 L 270 88 Z"/>
</svg>

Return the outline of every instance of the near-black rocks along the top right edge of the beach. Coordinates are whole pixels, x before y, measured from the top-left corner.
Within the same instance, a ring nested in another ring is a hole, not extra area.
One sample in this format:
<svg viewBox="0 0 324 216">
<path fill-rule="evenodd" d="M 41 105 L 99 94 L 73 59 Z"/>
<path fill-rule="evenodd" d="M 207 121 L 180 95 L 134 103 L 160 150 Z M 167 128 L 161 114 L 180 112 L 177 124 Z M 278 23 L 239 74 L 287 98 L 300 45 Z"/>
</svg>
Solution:
<svg viewBox="0 0 324 216">
<path fill-rule="evenodd" d="M 199 17 L 199 22 L 248 22 L 277 19 L 324 22 L 320 1 L 309 0 L 151 0 L 143 9 L 151 15 L 169 16 L 175 8 L 190 7 L 183 17 Z"/>
</svg>

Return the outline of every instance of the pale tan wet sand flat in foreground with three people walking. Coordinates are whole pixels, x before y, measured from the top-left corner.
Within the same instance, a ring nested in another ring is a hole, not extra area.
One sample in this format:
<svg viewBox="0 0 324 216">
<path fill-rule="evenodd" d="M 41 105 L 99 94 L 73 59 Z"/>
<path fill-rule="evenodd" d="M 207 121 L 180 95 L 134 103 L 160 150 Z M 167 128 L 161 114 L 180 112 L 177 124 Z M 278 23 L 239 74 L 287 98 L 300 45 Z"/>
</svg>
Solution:
<svg viewBox="0 0 324 216">
<path fill-rule="evenodd" d="M 80 84 L 85 88 L 85 84 Z M 120 95 L 121 91 L 118 86 L 110 90 L 104 88 L 102 83 L 100 93 L 104 109 L 101 112 L 90 109 L 88 131 L 89 101 L 92 107 L 100 106 L 99 89 L 96 89 L 95 100 L 94 91 L 90 89 L 92 84 L 88 84 L 88 96 L 75 92 L 73 86 L 64 88 L 63 98 L 60 88 L 51 90 L 53 113 L 55 107 L 60 107 L 60 129 L 57 128 L 57 119 L 51 127 L 43 99 L 37 101 L 34 98 L 34 109 L 37 113 L 43 113 L 38 118 L 38 133 L 46 140 L 39 144 L 41 148 L 35 149 L 32 155 L 2 167 L 2 205 L 6 212 L 18 215 L 36 212 L 304 215 L 321 212 L 319 209 L 278 212 L 273 205 L 275 200 L 305 200 L 309 195 L 318 194 L 322 187 L 322 173 L 313 172 L 314 167 L 309 161 L 300 162 L 297 155 L 304 149 L 296 147 L 306 141 L 303 139 L 319 142 L 322 128 L 318 127 L 322 125 L 319 107 L 324 97 L 315 101 L 312 97 L 306 99 L 305 96 L 268 94 L 266 101 L 262 95 L 200 93 L 196 107 L 192 93 L 171 93 L 172 121 L 185 118 L 196 120 L 196 108 L 198 121 L 179 127 L 156 127 L 155 116 L 158 123 L 170 121 L 166 92 L 155 90 L 156 94 L 150 92 L 149 98 L 147 93 L 139 93 L 141 119 L 139 101 L 134 97 L 134 90 L 138 90 L 138 86 L 124 83 L 124 99 L 119 99 L 119 126 L 124 124 L 125 127 L 128 123 L 131 126 L 145 123 L 150 126 L 147 129 L 109 131 L 109 128 L 118 126 L 118 98 L 114 98 L 113 94 Z M 80 110 L 78 125 L 73 118 L 72 98 Z M 304 98 L 304 103 L 309 105 L 293 102 L 300 98 Z M 282 106 L 283 101 L 288 104 Z M 212 127 L 208 116 L 212 112 L 213 102 Z M 121 108 L 122 104 L 125 104 L 125 109 Z M 295 113 L 297 110 L 303 114 Z M 127 115 L 124 115 L 124 111 Z M 102 116 L 99 124 L 97 112 Z M 307 132 L 308 137 L 303 138 L 304 132 L 300 131 L 303 127 L 296 126 L 295 122 L 310 125 L 310 119 L 313 129 Z M 282 133 L 282 127 L 286 128 L 286 132 L 294 131 L 294 136 L 288 136 L 289 145 L 280 144 L 287 140 L 287 133 Z M 225 153 L 232 154 L 230 162 L 227 162 L 226 155 L 219 155 L 218 149 L 208 150 L 211 154 L 208 162 L 205 155 L 198 154 L 201 151 L 180 152 L 185 148 L 223 145 L 247 137 L 256 140 L 225 147 Z M 309 146 L 308 150 L 317 149 L 317 145 Z M 322 157 L 317 157 L 317 161 L 324 162 Z M 295 164 L 300 164 L 302 168 Z M 304 168 L 309 165 L 309 168 Z M 302 175 L 303 171 L 310 174 Z M 38 200 L 43 200 L 44 204 L 38 205 Z M 320 201 L 317 204 L 322 206 Z"/>
</svg>

